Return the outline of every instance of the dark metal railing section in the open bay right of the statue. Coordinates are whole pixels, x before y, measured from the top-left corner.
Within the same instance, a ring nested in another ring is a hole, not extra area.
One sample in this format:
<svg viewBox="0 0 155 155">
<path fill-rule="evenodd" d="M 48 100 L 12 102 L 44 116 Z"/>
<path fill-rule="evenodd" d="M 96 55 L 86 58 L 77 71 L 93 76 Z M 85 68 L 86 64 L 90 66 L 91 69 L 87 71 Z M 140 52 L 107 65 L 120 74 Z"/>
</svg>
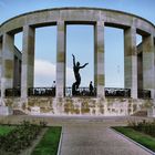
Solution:
<svg viewBox="0 0 155 155">
<path fill-rule="evenodd" d="M 105 87 L 105 96 L 131 97 L 130 89 Z"/>
</svg>

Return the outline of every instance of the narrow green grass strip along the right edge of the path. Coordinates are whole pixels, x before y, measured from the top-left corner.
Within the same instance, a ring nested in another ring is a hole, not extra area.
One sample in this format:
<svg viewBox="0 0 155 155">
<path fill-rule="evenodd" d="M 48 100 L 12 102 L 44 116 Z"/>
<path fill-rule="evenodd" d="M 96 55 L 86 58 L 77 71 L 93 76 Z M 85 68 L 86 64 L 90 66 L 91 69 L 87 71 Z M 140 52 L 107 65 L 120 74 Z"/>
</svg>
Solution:
<svg viewBox="0 0 155 155">
<path fill-rule="evenodd" d="M 155 137 L 134 131 L 133 128 L 130 127 L 116 126 L 113 128 L 124 134 L 125 136 L 132 138 L 133 141 L 142 144 L 143 146 L 152 149 L 153 152 L 155 152 Z"/>
</svg>

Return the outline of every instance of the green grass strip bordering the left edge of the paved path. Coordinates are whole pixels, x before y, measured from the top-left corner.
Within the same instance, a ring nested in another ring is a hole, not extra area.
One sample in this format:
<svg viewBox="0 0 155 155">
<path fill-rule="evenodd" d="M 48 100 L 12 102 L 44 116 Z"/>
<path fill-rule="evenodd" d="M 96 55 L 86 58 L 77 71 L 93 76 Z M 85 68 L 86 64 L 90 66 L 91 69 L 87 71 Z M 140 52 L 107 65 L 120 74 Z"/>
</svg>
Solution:
<svg viewBox="0 0 155 155">
<path fill-rule="evenodd" d="M 56 155 L 61 130 L 58 126 L 49 127 L 31 155 Z"/>
</svg>

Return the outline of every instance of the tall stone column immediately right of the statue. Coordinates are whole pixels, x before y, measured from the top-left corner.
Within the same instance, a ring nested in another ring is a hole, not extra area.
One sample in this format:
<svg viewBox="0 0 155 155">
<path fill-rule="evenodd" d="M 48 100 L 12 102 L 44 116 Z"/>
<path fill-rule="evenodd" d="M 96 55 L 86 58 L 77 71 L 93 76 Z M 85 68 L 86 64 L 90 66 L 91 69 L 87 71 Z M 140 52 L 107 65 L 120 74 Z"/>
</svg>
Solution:
<svg viewBox="0 0 155 155">
<path fill-rule="evenodd" d="M 97 21 L 94 25 L 94 85 L 97 97 L 105 97 L 104 21 Z"/>
</svg>

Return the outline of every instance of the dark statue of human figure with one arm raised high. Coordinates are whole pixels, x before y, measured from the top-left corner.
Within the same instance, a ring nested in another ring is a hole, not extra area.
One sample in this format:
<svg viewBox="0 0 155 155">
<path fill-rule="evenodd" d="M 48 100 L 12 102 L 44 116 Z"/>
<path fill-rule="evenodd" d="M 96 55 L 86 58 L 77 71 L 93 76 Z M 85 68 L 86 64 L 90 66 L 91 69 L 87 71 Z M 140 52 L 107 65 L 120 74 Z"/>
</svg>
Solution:
<svg viewBox="0 0 155 155">
<path fill-rule="evenodd" d="M 73 71 L 74 71 L 74 76 L 75 76 L 75 82 L 73 83 L 72 85 L 72 89 L 75 91 L 75 92 L 72 92 L 73 94 L 76 93 L 80 84 L 81 84 L 81 76 L 80 76 L 80 69 L 83 69 L 85 68 L 89 63 L 85 63 L 84 65 L 80 66 L 80 62 L 78 61 L 75 63 L 75 56 L 72 54 L 73 56 Z"/>
</svg>

